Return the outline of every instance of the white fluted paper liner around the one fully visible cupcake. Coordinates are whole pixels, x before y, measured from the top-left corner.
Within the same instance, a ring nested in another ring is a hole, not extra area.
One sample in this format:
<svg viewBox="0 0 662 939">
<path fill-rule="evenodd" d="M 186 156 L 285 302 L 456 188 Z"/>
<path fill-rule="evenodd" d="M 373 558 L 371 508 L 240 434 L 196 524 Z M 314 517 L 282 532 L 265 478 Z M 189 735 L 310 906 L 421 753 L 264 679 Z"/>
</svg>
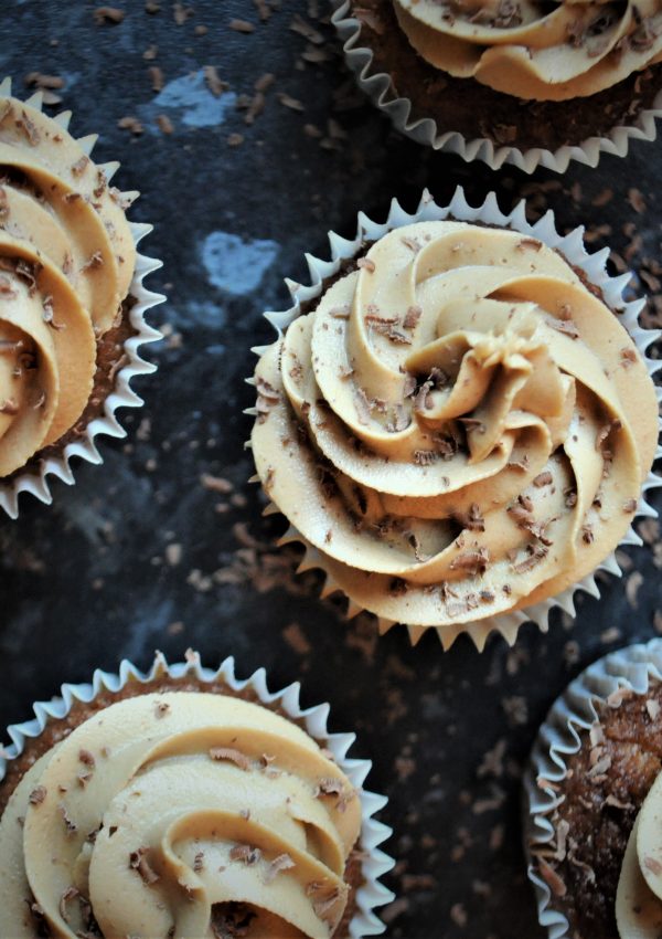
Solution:
<svg viewBox="0 0 662 939">
<path fill-rule="evenodd" d="M 393 229 L 409 225 L 413 222 L 442 221 L 449 218 L 462 222 L 482 222 L 488 225 L 510 228 L 524 235 L 532 235 L 544 242 L 549 247 L 559 251 L 567 261 L 586 274 L 591 284 L 602 291 L 605 303 L 612 310 L 619 312 L 619 323 L 622 324 L 637 344 L 637 348 L 645 360 L 649 373 L 652 376 L 655 371 L 662 368 L 661 360 L 651 359 L 647 355 L 647 349 L 652 342 L 660 338 L 662 330 L 643 329 L 639 325 L 639 315 L 645 306 L 645 299 L 624 299 L 623 292 L 628 287 L 632 275 L 630 273 L 626 273 L 617 277 L 612 277 L 608 274 L 606 270 L 607 259 L 609 257 L 608 247 L 604 247 L 601 251 L 589 254 L 584 244 L 584 226 L 580 225 L 566 235 L 559 234 L 556 230 L 554 213 L 552 210 L 547 211 L 542 219 L 538 219 L 538 221 L 534 224 L 530 224 L 526 221 L 525 200 L 519 202 L 512 212 L 504 214 L 499 208 L 495 193 L 490 192 L 481 205 L 473 208 L 467 202 L 465 191 L 461 186 L 458 186 L 448 205 L 437 205 L 430 193 L 427 190 L 424 191 L 418 208 L 412 214 L 406 212 L 402 205 L 399 205 L 397 200 L 394 199 L 391 203 L 388 218 L 383 223 L 373 222 L 364 212 L 359 212 L 359 226 L 354 239 L 344 239 L 341 238 L 341 235 L 335 234 L 335 232 L 329 232 L 331 260 L 322 261 L 319 257 L 313 257 L 311 254 L 306 254 L 306 261 L 310 272 L 310 284 L 303 286 L 302 284 L 297 284 L 293 281 L 286 278 L 285 283 L 290 292 L 293 305 L 289 307 L 289 309 L 265 313 L 265 317 L 275 327 L 278 336 L 280 337 L 289 324 L 300 315 L 301 304 L 320 296 L 323 289 L 324 278 L 337 274 L 344 259 L 354 257 L 359 254 L 364 242 L 376 241 Z M 253 351 L 257 356 L 261 356 L 267 348 L 267 346 L 255 347 Z M 247 379 L 247 381 L 249 384 L 255 383 L 253 379 Z M 656 388 L 656 395 L 658 402 L 660 403 L 662 401 L 661 388 Z M 257 416 L 257 410 L 255 408 L 248 408 L 245 413 Z M 658 423 L 659 430 L 662 430 L 662 420 L 659 419 Z M 248 442 L 246 445 L 249 447 L 250 443 Z M 656 458 L 660 456 L 662 456 L 662 447 L 658 446 Z M 259 483 L 259 476 L 252 476 L 250 482 Z M 651 518 L 658 517 L 655 509 L 645 502 L 645 495 L 649 489 L 661 485 L 662 477 L 652 472 L 649 473 L 648 478 L 642 486 L 642 495 L 639 500 L 634 518 L 641 518 L 642 516 L 649 516 Z M 269 504 L 265 510 L 265 515 L 271 515 L 277 511 L 279 511 L 278 507 L 274 504 Z M 310 570 L 312 568 L 320 568 L 325 574 L 325 582 L 321 593 L 322 598 L 328 597 L 335 591 L 341 591 L 341 588 L 335 583 L 333 577 L 328 570 L 325 570 L 323 555 L 320 553 L 320 551 L 318 551 L 313 546 L 308 544 L 303 536 L 291 525 L 279 544 L 284 545 L 290 541 L 299 541 L 306 548 L 306 555 L 299 566 L 299 572 Z M 627 535 L 619 542 L 621 546 L 641 546 L 642 544 L 641 538 L 637 535 L 632 526 L 630 526 Z M 428 629 L 434 629 L 436 630 L 444 648 L 449 648 L 461 633 L 467 633 L 474 642 L 477 648 L 482 651 L 488 636 L 490 633 L 495 631 L 506 640 L 509 645 L 512 645 L 523 623 L 533 621 L 543 632 L 547 632 L 549 611 L 554 606 L 559 606 L 568 615 L 575 616 L 574 595 L 576 591 L 584 591 L 586 593 L 590 593 L 591 597 L 599 598 L 600 591 L 595 579 L 595 573 L 598 570 L 616 574 L 616 577 L 620 577 L 622 573 L 616 560 L 616 555 L 612 551 L 596 568 L 594 573 L 588 574 L 581 581 L 578 581 L 573 587 L 564 590 L 562 593 L 558 593 L 556 597 L 544 600 L 541 603 L 536 603 L 535 605 L 527 606 L 522 610 L 515 610 L 511 613 L 489 616 L 473 623 L 460 623 L 447 626 L 408 625 L 407 630 L 409 637 L 413 644 L 416 644 Z M 357 605 L 350 599 L 348 615 L 350 618 L 360 613 L 362 609 L 362 606 Z M 393 620 L 387 620 L 381 616 L 377 616 L 377 620 L 380 633 L 382 634 L 396 625 Z"/>
</svg>

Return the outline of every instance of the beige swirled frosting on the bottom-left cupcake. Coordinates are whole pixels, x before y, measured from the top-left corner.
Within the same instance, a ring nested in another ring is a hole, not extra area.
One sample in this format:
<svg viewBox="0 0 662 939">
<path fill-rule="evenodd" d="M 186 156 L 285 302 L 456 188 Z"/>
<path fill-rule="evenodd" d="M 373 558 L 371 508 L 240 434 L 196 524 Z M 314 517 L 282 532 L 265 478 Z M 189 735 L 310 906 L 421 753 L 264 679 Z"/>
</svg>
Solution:
<svg viewBox="0 0 662 939">
<path fill-rule="evenodd" d="M 236 935 L 328 939 L 360 827 L 348 778 L 278 714 L 204 693 L 121 700 L 12 793 L 0 935 L 32 939 L 32 905 L 53 937 L 213 939 L 239 903 Z"/>
</svg>

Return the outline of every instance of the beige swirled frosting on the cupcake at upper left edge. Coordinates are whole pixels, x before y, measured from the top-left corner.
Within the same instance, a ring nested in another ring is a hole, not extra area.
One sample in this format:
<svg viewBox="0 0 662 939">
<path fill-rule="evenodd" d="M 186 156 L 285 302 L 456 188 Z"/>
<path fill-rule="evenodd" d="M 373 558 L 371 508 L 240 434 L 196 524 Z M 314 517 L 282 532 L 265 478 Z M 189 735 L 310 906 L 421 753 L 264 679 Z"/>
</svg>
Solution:
<svg viewBox="0 0 662 939">
<path fill-rule="evenodd" d="M 0 476 L 83 413 L 136 249 L 120 193 L 58 123 L 0 97 Z"/>
</svg>

